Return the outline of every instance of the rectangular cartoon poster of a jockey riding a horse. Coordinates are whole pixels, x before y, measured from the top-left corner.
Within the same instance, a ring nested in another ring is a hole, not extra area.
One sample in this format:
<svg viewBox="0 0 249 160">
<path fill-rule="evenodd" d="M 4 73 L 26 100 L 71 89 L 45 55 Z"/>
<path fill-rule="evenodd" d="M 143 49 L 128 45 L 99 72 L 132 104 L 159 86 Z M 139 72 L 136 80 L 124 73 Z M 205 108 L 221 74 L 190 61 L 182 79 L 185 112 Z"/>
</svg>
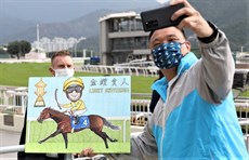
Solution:
<svg viewBox="0 0 249 160">
<path fill-rule="evenodd" d="M 130 152 L 130 76 L 29 78 L 25 152 Z"/>
</svg>

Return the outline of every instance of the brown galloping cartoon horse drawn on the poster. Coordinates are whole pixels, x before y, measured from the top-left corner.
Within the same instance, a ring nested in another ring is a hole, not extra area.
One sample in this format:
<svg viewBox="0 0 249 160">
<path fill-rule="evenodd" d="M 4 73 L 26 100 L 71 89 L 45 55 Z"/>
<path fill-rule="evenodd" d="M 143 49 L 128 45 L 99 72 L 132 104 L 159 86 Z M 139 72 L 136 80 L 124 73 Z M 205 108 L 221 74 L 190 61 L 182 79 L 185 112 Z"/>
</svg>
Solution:
<svg viewBox="0 0 249 160">
<path fill-rule="evenodd" d="M 57 130 L 52 133 L 50 136 L 48 136 L 47 138 L 42 139 L 39 142 L 39 144 L 48 141 L 51 137 L 56 136 L 57 134 L 62 133 L 64 142 L 65 142 L 65 148 L 67 148 L 67 133 L 71 133 L 71 118 L 70 116 L 67 116 L 61 111 L 54 110 L 50 107 L 44 108 L 40 116 L 38 117 L 37 121 L 38 122 L 42 122 L 45 119 L 53 119 L 56 123 L 57 123 Z M 103 132 L 103 126 L 106 125 L 108 128 L 110 128 L 112 130 L 120 130 L 119 126 L 116 126 L 114 124 L 112 124 L 109 121 L 107 121 L 105 118 L 97 116 L 97 115 L 89 115 L 89 116 L 84 116 L 84 122 L 83 123 L 88 123 L 86 125 L 86 128 L 78 128 L 75 129 L 75 132 L 79 132 L 81 130 L 84 129 L 90 129 L 92 132 L 94 132 L 96 135 L 99 135 L 100 137 L 102 137 L 102 139 L 105 143 L 105 147 L 108 148 L 108 144 L 107 144 L 107 139 L 108 138 L 112 143 L 117 142 L 117 139 L 112 139 L 105 132 Z M 74 118 L 73 118 L 74 119 Z M 82 123 L 82 121 L 80 121 Z"/>
</svg>

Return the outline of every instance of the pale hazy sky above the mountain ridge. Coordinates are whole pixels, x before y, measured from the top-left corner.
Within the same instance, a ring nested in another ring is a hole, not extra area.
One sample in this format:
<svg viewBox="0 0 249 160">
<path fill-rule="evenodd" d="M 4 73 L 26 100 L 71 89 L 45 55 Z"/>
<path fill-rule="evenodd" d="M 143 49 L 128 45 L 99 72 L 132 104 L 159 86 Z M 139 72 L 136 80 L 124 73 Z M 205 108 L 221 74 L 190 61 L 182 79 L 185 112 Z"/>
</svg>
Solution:
<svg viewBox="0 0 249 160">
<path fill-rule="evenodd" d="M 0 17 L 26 21 L 65 22 L 100 9 L 132 10 L 169 0 L 0 0 Z"/>
</svg>

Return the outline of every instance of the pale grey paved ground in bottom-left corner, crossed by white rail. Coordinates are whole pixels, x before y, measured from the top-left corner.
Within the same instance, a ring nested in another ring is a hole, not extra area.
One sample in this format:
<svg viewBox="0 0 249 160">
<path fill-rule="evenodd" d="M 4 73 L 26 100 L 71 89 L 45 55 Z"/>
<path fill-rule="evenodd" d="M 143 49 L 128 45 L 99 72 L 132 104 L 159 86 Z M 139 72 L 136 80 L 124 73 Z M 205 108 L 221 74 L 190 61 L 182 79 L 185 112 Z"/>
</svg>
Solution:
<svg viewBox="0 0 249 160">
<path fill-rule="evenodd" d="M 4 146 L 15 146 L 19 143 L 21 132 L 0 130 L 0 147 Z M 0 155 L 0 160 L 16 160 L 17 154 L 2 154 Z"/>
</svg>

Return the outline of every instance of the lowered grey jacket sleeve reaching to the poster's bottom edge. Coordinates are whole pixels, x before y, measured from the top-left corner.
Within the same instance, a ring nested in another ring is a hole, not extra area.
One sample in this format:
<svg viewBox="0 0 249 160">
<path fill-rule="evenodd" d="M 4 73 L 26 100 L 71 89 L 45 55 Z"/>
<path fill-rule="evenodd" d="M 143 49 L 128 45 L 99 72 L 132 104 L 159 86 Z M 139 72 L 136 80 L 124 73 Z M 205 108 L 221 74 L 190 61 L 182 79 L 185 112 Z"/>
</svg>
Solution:
<svg viewBox="0 0 249 160">
<path fill-rule="evenodd" d="M 152 134 L 152 120 L 149 119 L 144 131 L 139 135 L 131 136 L 131 154 L 105 155 L 109 159 L 120 160 L 152 160 L 157 159 L 157 145 Z"/>
</svg>

